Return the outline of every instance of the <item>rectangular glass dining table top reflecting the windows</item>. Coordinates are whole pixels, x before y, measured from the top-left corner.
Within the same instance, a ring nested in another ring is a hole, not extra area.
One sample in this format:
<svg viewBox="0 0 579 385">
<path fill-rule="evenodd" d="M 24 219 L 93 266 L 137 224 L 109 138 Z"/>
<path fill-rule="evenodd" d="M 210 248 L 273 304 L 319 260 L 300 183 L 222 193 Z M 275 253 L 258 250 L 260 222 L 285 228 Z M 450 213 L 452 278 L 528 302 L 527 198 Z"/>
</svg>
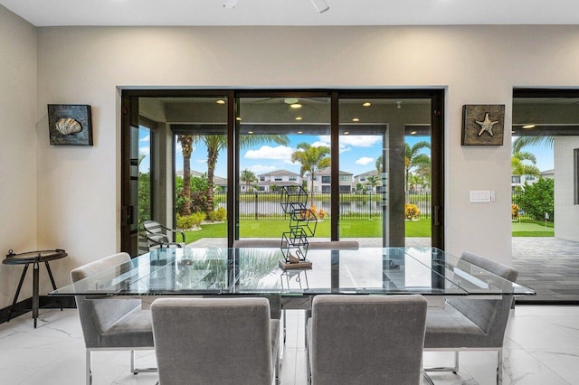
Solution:
<svg viewBox="0 0 579 385">
<path fill-rule="evenodd" d="M 323 294 L 420 294 L 432 303 L 535 294 L 435 248 L 310 249 L 309 268 L 282 268 L 282 258 L 281 249 L 154 249 L 49 296 L 266 296 L 308 309 Z"/>
</svg>

